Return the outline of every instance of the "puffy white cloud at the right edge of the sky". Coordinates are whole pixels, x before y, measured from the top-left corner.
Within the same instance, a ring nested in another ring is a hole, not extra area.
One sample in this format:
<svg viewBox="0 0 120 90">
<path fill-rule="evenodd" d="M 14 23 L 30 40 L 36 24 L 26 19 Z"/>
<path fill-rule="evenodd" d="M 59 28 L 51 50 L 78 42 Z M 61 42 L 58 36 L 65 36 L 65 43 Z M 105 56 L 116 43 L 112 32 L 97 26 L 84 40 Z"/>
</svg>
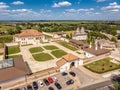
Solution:
<svg viewBox="0 0 120 90">
<path fill-rule="evenodd" d="M 118 5 L 117 2 L 109 3 L 108 6 L 102 7 L 101 10 L 118 12 L 120 10 L 120 5 Z"/>
</svg>

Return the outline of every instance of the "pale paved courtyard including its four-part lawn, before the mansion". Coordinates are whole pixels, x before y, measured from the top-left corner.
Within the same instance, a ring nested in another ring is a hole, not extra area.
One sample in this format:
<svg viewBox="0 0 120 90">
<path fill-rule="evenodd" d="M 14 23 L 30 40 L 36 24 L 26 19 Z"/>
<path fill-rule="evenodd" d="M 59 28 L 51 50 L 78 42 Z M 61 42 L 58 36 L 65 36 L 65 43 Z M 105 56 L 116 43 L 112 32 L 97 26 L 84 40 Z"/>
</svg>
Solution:
<svg viewBox="0 0 120 90">
<path fill-rule="evenodd" d="M 66 50 L 66 48 L 54 42 L 21 46 L 20 51 L 23 59 L 28 63 L 32 72 L 56 67 L 56 61 L 63 55 L 71 53 L 68 49 Z"/>
</svg>

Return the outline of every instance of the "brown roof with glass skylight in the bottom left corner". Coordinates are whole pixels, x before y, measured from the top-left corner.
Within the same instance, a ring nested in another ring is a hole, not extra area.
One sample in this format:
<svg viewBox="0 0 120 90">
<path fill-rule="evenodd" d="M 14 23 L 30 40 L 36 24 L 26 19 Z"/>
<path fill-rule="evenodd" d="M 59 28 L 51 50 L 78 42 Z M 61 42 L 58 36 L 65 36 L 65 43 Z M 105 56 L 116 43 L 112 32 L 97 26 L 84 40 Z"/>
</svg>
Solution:
<svg viewBox="0 0 120 90">
<path fill-rule="evenodd" d="M 2 60 L 1 62 L 5 62 L 7 65 L 0 69 L 0 82 L 29 74 L 22 57 L 10 59 L 10 61 Z"/>
</svg>

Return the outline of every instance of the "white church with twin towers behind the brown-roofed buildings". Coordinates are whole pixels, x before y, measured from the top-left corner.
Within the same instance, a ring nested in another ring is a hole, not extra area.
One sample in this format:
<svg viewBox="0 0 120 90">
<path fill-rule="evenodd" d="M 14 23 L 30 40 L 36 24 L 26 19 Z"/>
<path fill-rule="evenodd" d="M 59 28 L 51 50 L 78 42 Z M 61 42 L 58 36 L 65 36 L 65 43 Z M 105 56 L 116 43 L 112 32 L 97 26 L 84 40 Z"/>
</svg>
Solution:
<svg viewBox="0 0 120 90">
<path fill-rule="evenodd" d="M 77 28 L 77 30 L 72 35 L 72 39 L 86 40 L 87 39 L 87 33 L 85 32 L 84 27 L 82 27 L 81 29 Z"/>
</svg>

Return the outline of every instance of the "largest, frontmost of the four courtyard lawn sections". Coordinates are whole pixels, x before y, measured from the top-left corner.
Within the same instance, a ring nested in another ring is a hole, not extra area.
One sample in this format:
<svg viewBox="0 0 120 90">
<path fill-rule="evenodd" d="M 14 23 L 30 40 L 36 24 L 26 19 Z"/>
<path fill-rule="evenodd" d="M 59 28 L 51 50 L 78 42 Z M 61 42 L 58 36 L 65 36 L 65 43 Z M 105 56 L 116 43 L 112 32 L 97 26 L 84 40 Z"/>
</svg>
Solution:
<svg viewBox="0 0 120 90">
<path fill-rule="evenodd" d="M 36 61 L 48 61 L 53 59 L 53 57 L 48 53 L 33 54 L 33 57 Z"/>
</svg>

